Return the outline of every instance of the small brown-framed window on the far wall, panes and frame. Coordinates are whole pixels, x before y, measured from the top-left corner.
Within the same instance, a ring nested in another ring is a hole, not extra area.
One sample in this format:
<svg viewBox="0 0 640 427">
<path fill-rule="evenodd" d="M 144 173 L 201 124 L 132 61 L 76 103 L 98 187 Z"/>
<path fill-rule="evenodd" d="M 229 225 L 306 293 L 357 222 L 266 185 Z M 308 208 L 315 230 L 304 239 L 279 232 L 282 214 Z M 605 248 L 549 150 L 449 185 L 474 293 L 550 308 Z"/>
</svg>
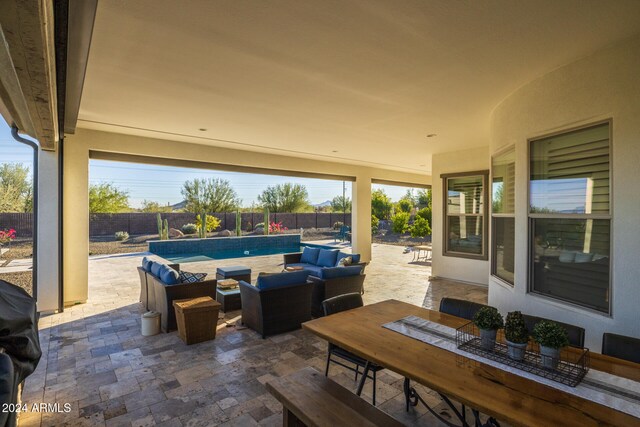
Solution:
<svg viewBox="0 0 640 427">
<path fill-rule="evenodd" d="M 443 175 L 444 255 L 487 259 L 487 172 Z"/>
</svg>

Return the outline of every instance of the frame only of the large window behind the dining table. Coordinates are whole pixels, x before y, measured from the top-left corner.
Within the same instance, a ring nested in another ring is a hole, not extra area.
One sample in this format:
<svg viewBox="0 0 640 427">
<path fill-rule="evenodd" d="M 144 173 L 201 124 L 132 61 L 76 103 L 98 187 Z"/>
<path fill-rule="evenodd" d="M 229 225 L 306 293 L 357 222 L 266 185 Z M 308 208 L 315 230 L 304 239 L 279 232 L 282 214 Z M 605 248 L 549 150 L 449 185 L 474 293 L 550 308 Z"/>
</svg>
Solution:
<svg viewBox="0 0 640 427">
<path fill-rule="evenodd" d="M 577 132 L 584 129 L 589 129 L 596 126 L 601 125 L 609 126 L 609 214 L 577 214 L 577 213 L 565 213 L 565 214 L 546 214 L 546 213 L 531 213 L 531 148 L 534 142 L 551 138 L 554 136 L 565 135 L 572 132 Z M 589 122 L 580 126 L 574 126 L 571 128 L 562 129 L 555 132 L 550 132 L 547 134 L 542 134 L 539 136 L 535 136 L 527 139 L 527 293 L 533 294 L 536 297 L 544 298 L 549 301 L 570 305 L 572 307 L 579 308 L 581 310 L 585 310 L 591 313 L 598 314 L 604 317 L 613 317 L 613 214 L 614 214 L 614 206 L 613 206 L 613 118 L 607 118 L 595 122 Z M 604 219 L 609 221 L 609 292 L 608 292 L 608 310 L 607 312 L 603 312 L 600 310 L 596 310 L 591 307 L 587 307 L 578 302 L 567 300 L 564 298 L 554 297 L 548 294 L 544 294 L 541 292 L 537 292 L 533 288 L 533 262 L 532 260 L 535 257 L 533 253 L 532 242 L 534 240 L 533 232 L 533 221 L 536 218 L 543 219 Z"/>
</svg>

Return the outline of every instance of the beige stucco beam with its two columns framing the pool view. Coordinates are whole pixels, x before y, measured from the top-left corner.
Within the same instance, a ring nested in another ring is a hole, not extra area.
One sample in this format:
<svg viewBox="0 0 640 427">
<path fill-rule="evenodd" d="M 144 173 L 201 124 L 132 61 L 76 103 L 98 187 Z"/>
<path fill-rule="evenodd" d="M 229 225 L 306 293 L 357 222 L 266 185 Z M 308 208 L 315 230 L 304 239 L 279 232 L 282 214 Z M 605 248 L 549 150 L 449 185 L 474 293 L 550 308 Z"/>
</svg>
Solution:
<svg viewBox="0 0 640 427">
<path fill-rule="evenodd" d="M 431 177 L 428 175 L 79 129 L 76 134 L 65 138 L 63 220 L 65 304 L 87 300 L 90 151 L 353 177 L 355 179 L 352 186 L 353 250 L 361 253 L 363 259 L 367 261 L 371 259 L 371 180 L 431 184 Z"/>
</svg>

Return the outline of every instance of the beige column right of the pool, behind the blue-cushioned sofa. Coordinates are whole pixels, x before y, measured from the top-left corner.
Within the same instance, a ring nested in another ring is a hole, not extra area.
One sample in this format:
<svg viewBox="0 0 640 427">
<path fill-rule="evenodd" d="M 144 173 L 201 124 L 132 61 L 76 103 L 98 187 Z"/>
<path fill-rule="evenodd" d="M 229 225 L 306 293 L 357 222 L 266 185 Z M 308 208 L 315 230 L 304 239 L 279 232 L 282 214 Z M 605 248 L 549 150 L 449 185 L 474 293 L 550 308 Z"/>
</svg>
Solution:
<svg viewBox="0 0 640 427">
<path fill-rule="evenodd" d="M 358 175 L 351 188 L 353 252 L 371 261 L 371 176 Z"/>
</svg>

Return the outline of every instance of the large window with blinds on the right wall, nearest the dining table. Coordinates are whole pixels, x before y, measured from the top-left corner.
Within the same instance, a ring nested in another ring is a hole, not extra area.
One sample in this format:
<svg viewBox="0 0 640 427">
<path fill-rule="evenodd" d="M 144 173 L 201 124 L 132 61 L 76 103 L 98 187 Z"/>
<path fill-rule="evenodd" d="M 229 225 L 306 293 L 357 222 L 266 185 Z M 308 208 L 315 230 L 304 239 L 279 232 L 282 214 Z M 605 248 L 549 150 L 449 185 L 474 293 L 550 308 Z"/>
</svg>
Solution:
<svg viewBox="0 0 640 427">
<path fill-rule="evenodd" d="M 530 144 L 530 289 L 608 313 L 610 123 Z"/>
</svg>

